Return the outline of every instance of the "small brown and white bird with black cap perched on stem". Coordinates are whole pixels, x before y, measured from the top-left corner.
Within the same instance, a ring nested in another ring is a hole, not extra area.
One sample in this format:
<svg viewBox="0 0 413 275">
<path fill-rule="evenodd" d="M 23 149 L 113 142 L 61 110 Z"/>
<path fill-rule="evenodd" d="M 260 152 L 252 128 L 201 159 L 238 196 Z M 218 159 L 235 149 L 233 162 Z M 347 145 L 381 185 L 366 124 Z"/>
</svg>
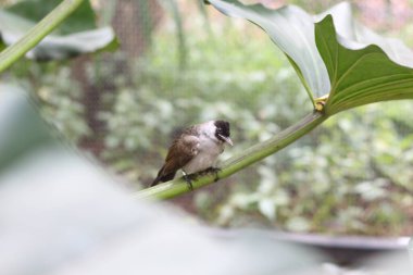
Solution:
<svg viewBox="0 0 413 275">
<path fill-rule="evenodd" d="M 165 163 L 151 186 L 172 180 L 176 172 L 183 170 L 185 179 L 192 189 L 187 175 L 210 168 L 215 171 L 213 165 L 224 152 L 225 143 L 233 146 L 229 135 L 229 123 L 225 121 L 210 121 L 186 128 L 173 141 Z"/>
</svg>

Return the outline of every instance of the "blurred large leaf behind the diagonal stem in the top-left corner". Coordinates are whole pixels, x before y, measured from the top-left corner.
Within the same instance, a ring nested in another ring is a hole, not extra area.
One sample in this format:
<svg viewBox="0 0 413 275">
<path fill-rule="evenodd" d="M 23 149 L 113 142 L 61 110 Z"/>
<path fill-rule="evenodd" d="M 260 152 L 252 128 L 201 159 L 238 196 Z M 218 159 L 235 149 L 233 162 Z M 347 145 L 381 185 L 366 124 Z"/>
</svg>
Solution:
<svg viewBox="0 0 413 275">
<path fill-rule="evenodd" d="M 16 42 L 60 2 L 27 0 L 0 10 L 2 43 Z M 89 1 L 84 1 L 51 35 L 28 51 L 26 57 L 35 60 L 66 59 L 116 46 L 112 28 L 96 28 L 95 20 Z"/>
</svg>

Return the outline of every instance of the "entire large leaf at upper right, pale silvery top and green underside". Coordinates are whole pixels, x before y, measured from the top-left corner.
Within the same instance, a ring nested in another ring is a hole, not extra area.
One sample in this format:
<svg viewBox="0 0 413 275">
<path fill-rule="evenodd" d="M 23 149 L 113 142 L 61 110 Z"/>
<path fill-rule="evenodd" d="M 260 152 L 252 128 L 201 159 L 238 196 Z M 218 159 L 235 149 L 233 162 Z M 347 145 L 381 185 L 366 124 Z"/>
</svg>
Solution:
<svg viewBox="0 0 413 275">
<path fill-rule="evenodd" d="M 384 38 L 359 24 L 347 2 L 318 15 L 295 5 L 270 10 L 237 0 L 209 2 L 224 14 L 262 27 L 291 61 L 313 103 L 329 98 L 328 114 L 413 98 L 412 51 L 400 40 Z"/>
</svg>

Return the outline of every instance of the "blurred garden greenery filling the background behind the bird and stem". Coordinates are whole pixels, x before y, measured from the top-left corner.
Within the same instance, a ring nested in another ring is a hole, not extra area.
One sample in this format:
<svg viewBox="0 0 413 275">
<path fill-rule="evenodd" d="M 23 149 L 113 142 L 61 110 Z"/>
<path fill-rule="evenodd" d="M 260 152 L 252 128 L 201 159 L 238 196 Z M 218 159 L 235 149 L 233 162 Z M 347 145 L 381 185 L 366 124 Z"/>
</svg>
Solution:
<svg viewBox="0 0 413 275">
<path fill-rule="evenodd" d="M 46 120 L 134 188 L 151 182 L 182 126 L 230 121 L 236 146 L 225 159 L 311 112 L 286 58 L 252 24 L 197 1 L 103 2 L 91 1 L 98 23 L 113 25 L 118 51 L 22 60 L 2 80 L 30 88 Z M 262 2 L 317 13 L 339 1 Z M 354 1 L 361 21 L 410 47 L 412 5 Z M 218 226 L 412 235 L 412 109 L 402 101 L 340 113 L 225 183 L 173 201 Z"/>
</svg>

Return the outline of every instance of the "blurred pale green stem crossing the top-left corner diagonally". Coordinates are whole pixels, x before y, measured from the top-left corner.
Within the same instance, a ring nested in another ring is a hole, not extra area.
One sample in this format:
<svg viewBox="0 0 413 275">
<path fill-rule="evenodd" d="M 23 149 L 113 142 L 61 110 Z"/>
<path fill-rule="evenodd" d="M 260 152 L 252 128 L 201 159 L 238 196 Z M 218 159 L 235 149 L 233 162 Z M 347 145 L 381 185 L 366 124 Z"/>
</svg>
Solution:
<svg viewBox="0 0 413 275">
<path fill-rule="evenodd" d="M 35 47 L 50 34 L 63 20 L 74 12 L 84 0 L 64 0 L 17 42 L 0 53 L 0 73 Z"/>
</svg>

